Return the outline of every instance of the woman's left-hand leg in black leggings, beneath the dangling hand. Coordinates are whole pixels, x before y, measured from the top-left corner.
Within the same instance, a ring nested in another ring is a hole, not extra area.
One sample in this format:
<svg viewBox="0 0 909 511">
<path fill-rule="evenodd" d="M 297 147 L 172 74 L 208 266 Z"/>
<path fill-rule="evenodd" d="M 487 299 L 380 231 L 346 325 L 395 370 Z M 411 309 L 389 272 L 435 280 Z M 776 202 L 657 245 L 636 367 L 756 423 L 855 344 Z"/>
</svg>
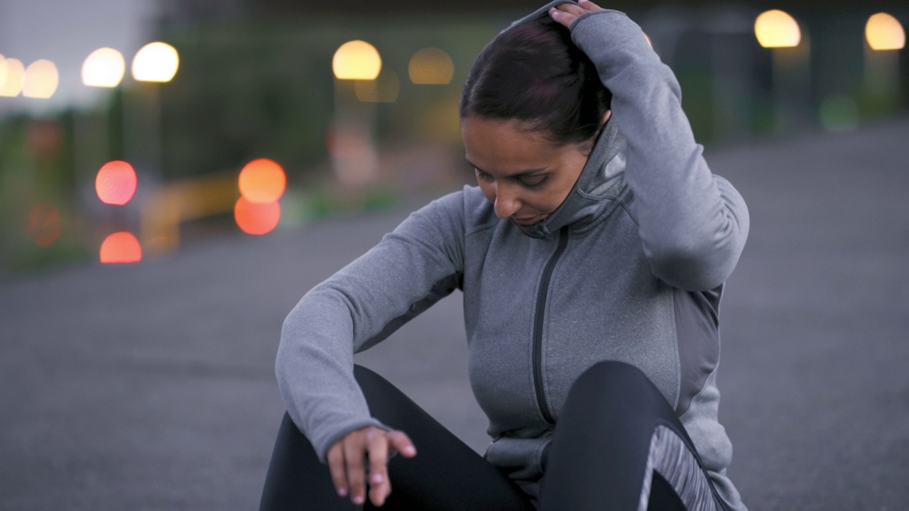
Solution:
<svg viewBox="0 0 909 511">
<path fill-rule="evenodd" d="M 534 507 L 514 483 L 429 416 L 382 376 L 355 366 L 370 412 L 404 431 L 417 456 L 395 456 L 388 464 L 391 496 L 384 510 L 530 511 Z M 349 498 L 335 493 L 327 466 L 285 414 L 266 476 L 261 509 L 347 510 Z M 371 509 L 368 503 L 365 509 Z"/>
</svg>

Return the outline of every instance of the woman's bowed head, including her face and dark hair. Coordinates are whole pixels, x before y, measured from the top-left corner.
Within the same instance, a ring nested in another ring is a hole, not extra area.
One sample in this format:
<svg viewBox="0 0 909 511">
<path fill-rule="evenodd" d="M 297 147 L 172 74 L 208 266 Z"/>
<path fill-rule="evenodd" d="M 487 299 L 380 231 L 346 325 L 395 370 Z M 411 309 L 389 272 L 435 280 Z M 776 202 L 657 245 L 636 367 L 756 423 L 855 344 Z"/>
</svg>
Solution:
<svg viewBox="0 0 909 511">
<path fill-rule="evenodd" d="M 562 204 L 611 97 L 562 25 L 517 25 L 485 47 L 464 84 L 461 134 L 496 215 L 530 225 Z"/>
</svg>

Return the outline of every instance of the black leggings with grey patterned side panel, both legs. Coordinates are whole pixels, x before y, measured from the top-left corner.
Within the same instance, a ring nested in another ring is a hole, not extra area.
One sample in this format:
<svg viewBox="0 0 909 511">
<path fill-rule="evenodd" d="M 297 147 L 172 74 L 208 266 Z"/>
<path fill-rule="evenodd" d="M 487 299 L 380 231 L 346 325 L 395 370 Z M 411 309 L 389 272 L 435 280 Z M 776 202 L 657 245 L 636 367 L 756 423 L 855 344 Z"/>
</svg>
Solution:
<svg viewBox="0 0 909 511">
<path fill-rule="evenodd" d="M 362 366 L 354 374 L 373 416 L 404 431 L 419 452 L 389 461 L 392 493 L 382 509 L 534 509 L 514 482 L 385 378 Z M 328 467 L 285 414 L 260 510 L 358 507 L 349 496 L 337 496 Z M 362 507 L 374 508 L 368 498 Z M 572 386 L 555 427 L 539 508 L 723 509 L 672 408 L 640 370 L 620 362 L 597 364 Z"/>
</svg>

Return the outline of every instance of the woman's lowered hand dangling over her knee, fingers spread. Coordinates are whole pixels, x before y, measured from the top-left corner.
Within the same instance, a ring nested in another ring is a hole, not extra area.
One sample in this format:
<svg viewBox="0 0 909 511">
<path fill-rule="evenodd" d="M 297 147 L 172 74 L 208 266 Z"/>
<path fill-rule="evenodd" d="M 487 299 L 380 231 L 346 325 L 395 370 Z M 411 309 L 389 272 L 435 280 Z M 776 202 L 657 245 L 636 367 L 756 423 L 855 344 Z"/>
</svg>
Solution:
<svg viewBox="0 0 909 511">
<path fill-rule="evenodd" d="M 392 493 L 388 479 L 388 457 L 395 451 L 401 456 L 416 456 L 416 448 L 404 432 L 385 431 L 369 426 L 348 433 L 328 449 L 328 468 L 339 496 L 350 494 L 351 502 L 364 504 L 365 456 L 369 455 L 369 499 L 374 506 L 385 504 Z"/>
</svg>

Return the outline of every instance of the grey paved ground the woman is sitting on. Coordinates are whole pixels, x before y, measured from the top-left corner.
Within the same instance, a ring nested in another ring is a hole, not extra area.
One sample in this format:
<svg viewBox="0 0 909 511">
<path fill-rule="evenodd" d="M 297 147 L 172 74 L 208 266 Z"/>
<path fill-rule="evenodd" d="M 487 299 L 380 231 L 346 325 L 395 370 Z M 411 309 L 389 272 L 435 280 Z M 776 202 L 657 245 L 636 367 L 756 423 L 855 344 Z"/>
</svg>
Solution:
<svg viewBox="0 0 909 511">
<path fill-rule="evenodd" d="M 752 234 L 723 305 L 754 510 L 909 509 L 909 119 L 708 153 Z M 287 311 L 399 209 L 0 286 L 0 509 L 255 509 Z M 360 357 L 480 450 L 460 296 Z"/>
</svg>

